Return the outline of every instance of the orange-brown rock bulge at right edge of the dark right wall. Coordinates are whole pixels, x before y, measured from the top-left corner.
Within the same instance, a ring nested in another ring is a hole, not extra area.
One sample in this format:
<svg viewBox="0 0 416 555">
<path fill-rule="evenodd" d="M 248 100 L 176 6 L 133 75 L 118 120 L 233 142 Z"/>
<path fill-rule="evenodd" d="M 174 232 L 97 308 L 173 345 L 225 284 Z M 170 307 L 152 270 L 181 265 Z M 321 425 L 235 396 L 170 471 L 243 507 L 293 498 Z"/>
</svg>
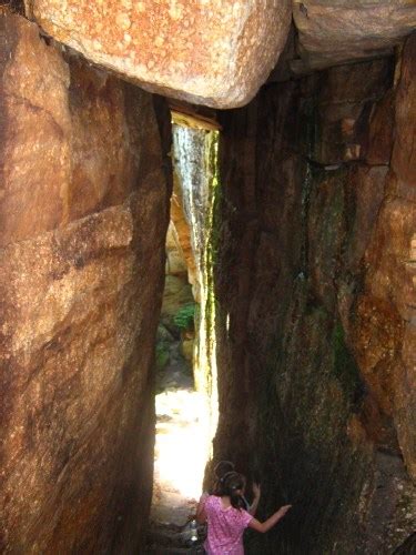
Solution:
<svg viewBox="0 0 416 555">
<path fill-rule="evenodd" d="M 368 273 L 356 330 L 362 372 L 376 392 L 384 413 L 395 421 L 399 446 L 412 476 L 416 475 L 416 279 L 412 254 L 415 228 L 412 203 L 387 198 L 366 255 Z"/>
</svg>

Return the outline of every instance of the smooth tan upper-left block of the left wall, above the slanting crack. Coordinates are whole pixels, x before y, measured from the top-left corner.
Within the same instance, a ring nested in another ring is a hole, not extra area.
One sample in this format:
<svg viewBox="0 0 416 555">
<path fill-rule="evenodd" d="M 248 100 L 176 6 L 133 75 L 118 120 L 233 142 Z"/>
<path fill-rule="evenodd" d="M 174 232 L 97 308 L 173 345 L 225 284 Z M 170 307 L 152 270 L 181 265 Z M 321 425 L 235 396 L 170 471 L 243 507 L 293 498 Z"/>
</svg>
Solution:
<svg viewBox="0 0 416 555">
<path fill-rule="evenodd" d="M 24 26 L 22 19 L 3 14 L 1 27 L 0 246 L 4 246 L 57 228 L 65 218 L 71 119 L 70 72 L 60 52 L 39 40 L 37 27 Z M 27 39 L 19 42 L 21 29 Z M 48 90 L 53 94 L 45 104 Z"/>
</svg>

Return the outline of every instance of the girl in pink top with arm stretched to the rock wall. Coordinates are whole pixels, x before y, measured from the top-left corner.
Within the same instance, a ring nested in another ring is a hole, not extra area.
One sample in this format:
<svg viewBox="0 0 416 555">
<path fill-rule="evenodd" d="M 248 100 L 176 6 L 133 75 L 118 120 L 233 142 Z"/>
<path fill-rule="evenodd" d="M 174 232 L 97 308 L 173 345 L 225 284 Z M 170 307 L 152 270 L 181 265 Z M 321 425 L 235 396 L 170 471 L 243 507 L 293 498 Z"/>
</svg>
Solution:
<svg viewBox="0 0 416 555">
<path fill-rule="evenodd" d="M 229 472 L 223 476 L 216 495 L 200 501 L 196 519 L 200 524 L 207 522 L 204 545 L 207 555 L 244 555 L 244 529 L 267 532 L 291 508 L 291 505 L 285 505 L 261 523 L 243 508 L 244 485 L 244 476 Z"/>
</svg>

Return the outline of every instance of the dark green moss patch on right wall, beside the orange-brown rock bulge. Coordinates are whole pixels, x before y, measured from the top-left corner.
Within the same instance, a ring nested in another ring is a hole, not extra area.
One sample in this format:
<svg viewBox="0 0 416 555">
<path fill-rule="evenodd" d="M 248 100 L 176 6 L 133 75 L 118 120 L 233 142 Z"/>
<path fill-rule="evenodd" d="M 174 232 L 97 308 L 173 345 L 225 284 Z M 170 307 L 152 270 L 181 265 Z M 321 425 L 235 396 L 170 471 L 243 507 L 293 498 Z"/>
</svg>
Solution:
<svg viewBox="0 0 416 555">
<path fill-rule="evenodd" d="M 333 331 L 334 373 L 348 401 L 359 402 L 364 394 L 364 383 L 358 366 L 345 344 L 344 329 L 338 322 Z"/>
</svg>

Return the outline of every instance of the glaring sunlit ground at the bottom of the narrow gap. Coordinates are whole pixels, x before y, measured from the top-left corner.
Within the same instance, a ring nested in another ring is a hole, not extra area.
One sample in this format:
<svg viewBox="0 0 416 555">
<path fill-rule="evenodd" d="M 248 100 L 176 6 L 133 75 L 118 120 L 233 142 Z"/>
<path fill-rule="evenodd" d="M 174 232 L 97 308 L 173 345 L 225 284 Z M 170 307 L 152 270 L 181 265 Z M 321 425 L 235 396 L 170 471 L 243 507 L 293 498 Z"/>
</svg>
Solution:
<svg viewBox="0 0 416 555">
<path fill-rule="evenodd" d="M 156 395 L 156 443 L 151 518 L 183 525 L 202 492 L 207 460 L 206 405 L 191 389 Z"/>
</svg>

